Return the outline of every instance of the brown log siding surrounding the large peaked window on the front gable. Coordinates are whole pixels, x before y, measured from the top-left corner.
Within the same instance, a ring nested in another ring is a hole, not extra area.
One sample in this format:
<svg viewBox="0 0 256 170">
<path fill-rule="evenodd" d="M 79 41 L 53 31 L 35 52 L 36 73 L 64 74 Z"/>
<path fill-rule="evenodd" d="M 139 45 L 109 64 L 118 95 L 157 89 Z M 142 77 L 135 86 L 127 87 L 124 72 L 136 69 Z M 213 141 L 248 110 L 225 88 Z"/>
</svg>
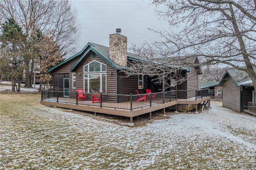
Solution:
<svg viewBox="0 0 256 170">
<path fill-rule="evenodd" d="M 94 60 L 107 65 L 107 89 L 105 93 L 116 94 L 116 69 L 114 69 L 111 65 L 109 65 L 106 61 L 104 61 L 104 59 L 102 59 L 98 55 L 96 55 L 96 58 L 92 58 L 92 52 L 88 53 L 76 68 L 76 89 L 84 89 L 84 65 Z M 111 75 L 109 74 L 110 71 L 112 72 Z M 81 75 L 78 75 L 78 73 L 81 73 Z"/>
</svg>

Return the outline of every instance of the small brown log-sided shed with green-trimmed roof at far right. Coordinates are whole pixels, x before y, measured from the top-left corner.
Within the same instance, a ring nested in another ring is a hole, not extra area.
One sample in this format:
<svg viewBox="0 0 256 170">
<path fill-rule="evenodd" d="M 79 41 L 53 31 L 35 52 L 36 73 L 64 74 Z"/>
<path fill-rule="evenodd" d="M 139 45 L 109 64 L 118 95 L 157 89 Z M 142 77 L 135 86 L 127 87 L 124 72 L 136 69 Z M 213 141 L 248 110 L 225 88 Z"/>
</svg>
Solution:
<svg viewBox="0 0 256 170">
<path fill-rule="evenodd" d="M 238 69 L 228 69 L 219 85 L 222 85 L 222 106 L 238 112 L 248 109 L 252 102 L 254 86 L 248 74 Z"/>
</svg>

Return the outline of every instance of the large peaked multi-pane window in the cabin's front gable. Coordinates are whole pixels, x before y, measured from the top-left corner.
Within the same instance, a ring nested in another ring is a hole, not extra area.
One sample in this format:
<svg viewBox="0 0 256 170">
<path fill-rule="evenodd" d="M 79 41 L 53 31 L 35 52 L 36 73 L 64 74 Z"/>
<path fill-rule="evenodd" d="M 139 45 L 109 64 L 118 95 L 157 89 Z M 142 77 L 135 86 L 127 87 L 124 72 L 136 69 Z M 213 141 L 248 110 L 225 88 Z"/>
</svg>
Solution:
<svg viewBox="0 0 256 170">
<path fill-rule="evenodd" d="M 106 64 L 92 61 L 84 66 L 84 91 L 106 93 Z"/>
</svg>

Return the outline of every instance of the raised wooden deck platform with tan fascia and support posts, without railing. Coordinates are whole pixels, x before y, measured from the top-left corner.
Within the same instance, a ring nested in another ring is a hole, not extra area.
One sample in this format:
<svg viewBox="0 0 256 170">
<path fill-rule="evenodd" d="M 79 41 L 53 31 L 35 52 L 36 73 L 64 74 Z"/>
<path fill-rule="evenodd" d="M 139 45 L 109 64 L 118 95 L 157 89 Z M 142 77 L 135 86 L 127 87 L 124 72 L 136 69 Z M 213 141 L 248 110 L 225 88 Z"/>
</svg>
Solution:
<svg viewBox="0 0 256 170">
<path fill-rule="evenodd" d="M 151 106 L 148 101 L 146 101 L 146 102 L 133 101 L 132 105 L 136 105 L 136 104 L 140 103 L 140 106 L 143 106 L 143 107 L 138 108 L 138 109 L 129 109 L 129 108 L 126 108 L 126 106 L 127 105 L 129 106 L 130 102 L 122 102 L 122 103 L 102 102 L 102 107 L 100 107 L 100 103 L 94 103 L 94 105 L 89 105 L 89 104 L 86 105 L 84 103 L 84 101 L 79 101 L 78 105 L 77 105 L 76 99 L 70 99 L 70 100 L 71 100 L 70 103 L 64 103 L 64 102 L 61 102 L 62 99 L 60 98 L 59 99 L 60 102 L 42 100 L 42 101 L 40 101 L 40 103 L 43 105 L 48 105 L 48 106 L 53 106 L 53 107 L 55 106 L 55 107 L 62 107 L 62 108 L 66 108 L 66 109 L 74 109 L 74 110 L 80 110 L 80 111 L 90 111 L 90 112 L 94 112 L 94 113 L 104 113 L 104 114 L 109 114 L 109 115 L 130 117 L 130 122 L 132 122 L 133 117 L 143 115 L 146 113 L 150 113 L 150 116 L 151 116 L 152 111 L 165 109 L 167 107 L 171 107 L 171 106 L 178 105 L 178 104 L 197 105 L 198 103 L 202 103 L 204 101 L 209 101 L 208 106 L 210 104 L 210 97 L 204 97 L 202 99 L 197 99 L 197 100 L 177 99 L 174 101 L 168 101 L 168 102 L 164 102 L 164 103 L 161 103 L 161 101 L 160 102 L 155 101 L 155 103 L 159 103 L 159 104 L 152 103 Z M 74 101 L 72 101 L 72 100 L 74 100 Z M 156 99 L 156 100 L 163 101 L 163 99 Z M 91 102 L 91 101 L 87 101 L 87 102 Z M 152 100 L 152 102 L 154 102 L 154 101 Z M 109 106 L 111 106 L 111 107 L 109 107 Z M 119 109 L 119 108 L 126 108 L 126 109 Z M 196 111 L 197 111 L 197 106 L 196 106 Z"/>
</svg>

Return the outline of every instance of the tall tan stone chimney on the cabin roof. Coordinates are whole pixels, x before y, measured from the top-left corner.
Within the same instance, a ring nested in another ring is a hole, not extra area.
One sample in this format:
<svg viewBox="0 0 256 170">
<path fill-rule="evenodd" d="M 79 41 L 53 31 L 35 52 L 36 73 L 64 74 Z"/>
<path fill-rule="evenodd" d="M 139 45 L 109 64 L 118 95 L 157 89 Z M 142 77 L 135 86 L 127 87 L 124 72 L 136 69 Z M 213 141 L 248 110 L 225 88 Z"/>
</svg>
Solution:
<svg viewBox="0 0 256 170">
<path fill-rule="evenodd" d="M 127 37 L 120 34 L 121 29 L 116 28 L 116 34 L 109 35 L 109 58 L 120 66 L 127 66 Z"/>
</svg>

